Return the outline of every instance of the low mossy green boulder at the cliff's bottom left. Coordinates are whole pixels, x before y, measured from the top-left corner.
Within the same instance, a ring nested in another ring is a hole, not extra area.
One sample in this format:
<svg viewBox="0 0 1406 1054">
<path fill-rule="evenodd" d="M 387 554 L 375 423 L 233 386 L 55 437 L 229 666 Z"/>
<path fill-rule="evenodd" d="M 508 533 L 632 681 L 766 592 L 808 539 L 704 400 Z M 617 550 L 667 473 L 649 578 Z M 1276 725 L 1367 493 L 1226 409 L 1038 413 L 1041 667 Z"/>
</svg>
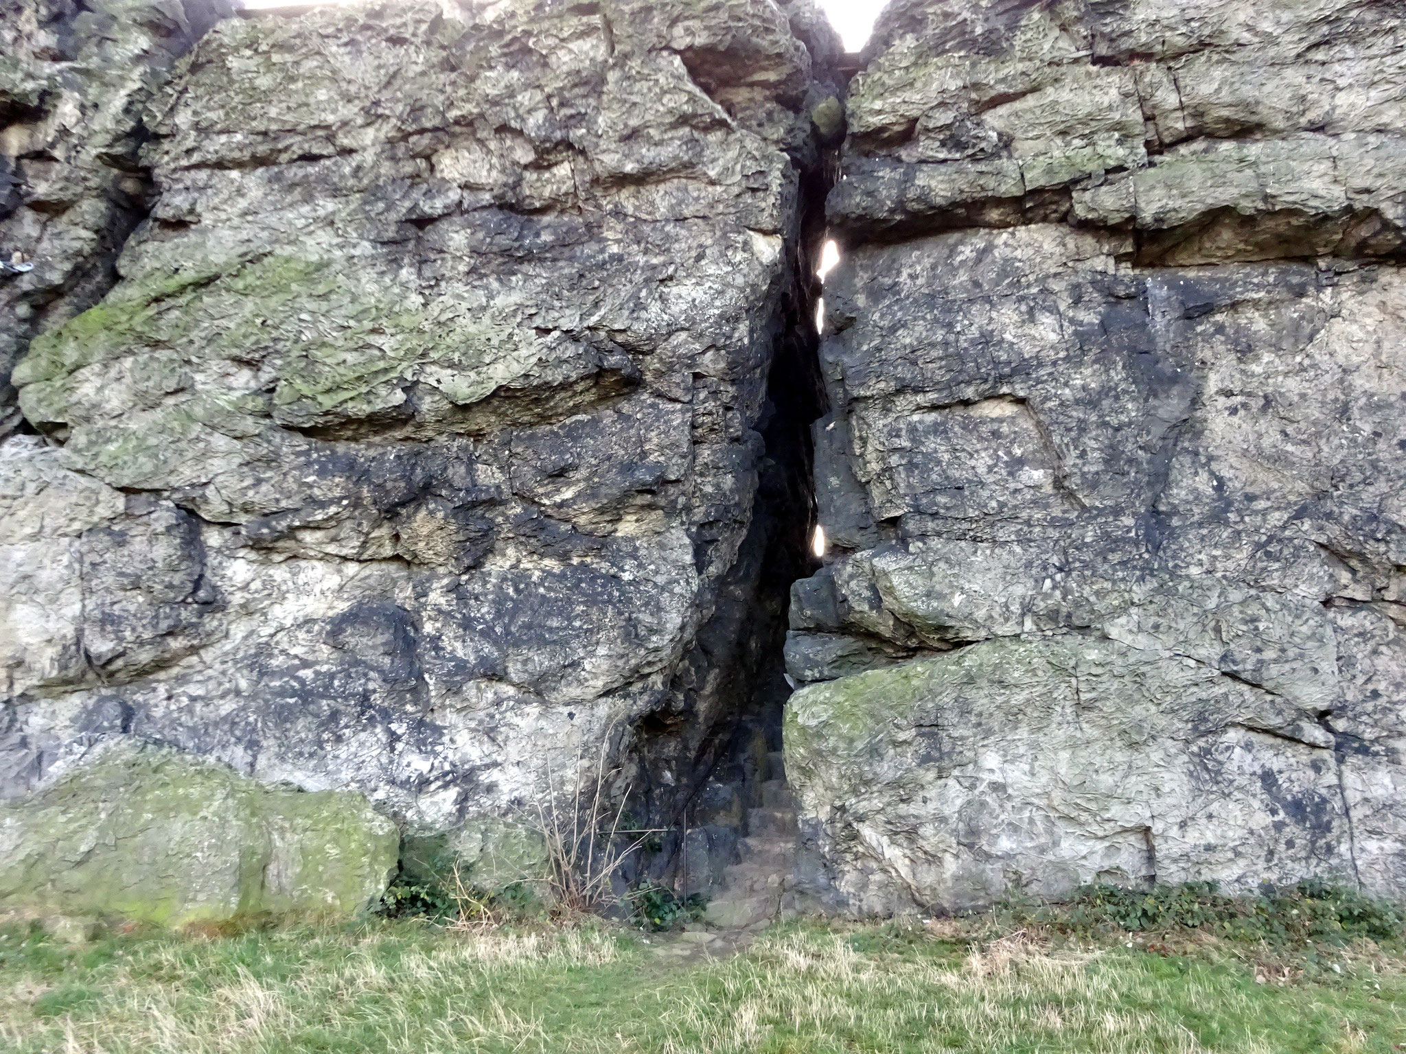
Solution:
<svg viewBox="0 0 1406 1054">
<path fill-rule="evenodd" d="M 0 908 L 166 926 L 346 918 L 377 902 L 398 852 L 395 824 L 360 794 L 267 787 L 121 743 L 0 805 Z"/>
</svg>

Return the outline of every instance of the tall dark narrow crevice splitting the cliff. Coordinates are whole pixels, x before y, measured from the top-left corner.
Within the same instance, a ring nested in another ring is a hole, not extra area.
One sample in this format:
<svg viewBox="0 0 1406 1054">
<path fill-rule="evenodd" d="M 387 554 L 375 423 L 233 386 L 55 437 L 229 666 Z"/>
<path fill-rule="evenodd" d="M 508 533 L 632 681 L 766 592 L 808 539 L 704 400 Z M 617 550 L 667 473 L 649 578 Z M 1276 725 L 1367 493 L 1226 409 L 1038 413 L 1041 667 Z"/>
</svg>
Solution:
<svg viewBox="0 0 1406 1054">
<path fill-rule="evenodd" d="M 831 166 L 801 186 L 794 274 L 779 311 L 752 520 L 709 621 L 675 676 L 661 710 L 633 729 L 641 791 L 630 815 L 659 829 L 621 876 L 710 895 L 737 859 L 748 809 L 776 770 L 790 686 L 785 645 L 790 587 L 813 575 L 817 523 L 811 424 L 825 413 L 820 372 L 817 268 L 825 240 Z"/>
</svg>

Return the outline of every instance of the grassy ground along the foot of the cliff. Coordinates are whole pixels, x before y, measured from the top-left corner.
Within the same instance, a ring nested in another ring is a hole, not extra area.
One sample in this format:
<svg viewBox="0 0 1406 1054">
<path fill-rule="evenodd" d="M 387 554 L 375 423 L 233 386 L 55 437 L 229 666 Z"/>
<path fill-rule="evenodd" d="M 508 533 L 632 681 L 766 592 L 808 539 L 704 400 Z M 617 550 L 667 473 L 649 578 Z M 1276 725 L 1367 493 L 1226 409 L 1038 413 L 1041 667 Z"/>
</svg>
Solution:
<svg viewBox="0 0 1406 1054">
<path fill-rule="evenodd" d="M 0 1051 L 1395 1051 L 1406 953 L 1010 919 L 676 936 L 415 922 L 83 944 L 0 929 Z M 676 944 L 672 944 L 678 947 Z M 1400 1044 L 1400 1046 L 1399 1046 Z"/>
</svg>

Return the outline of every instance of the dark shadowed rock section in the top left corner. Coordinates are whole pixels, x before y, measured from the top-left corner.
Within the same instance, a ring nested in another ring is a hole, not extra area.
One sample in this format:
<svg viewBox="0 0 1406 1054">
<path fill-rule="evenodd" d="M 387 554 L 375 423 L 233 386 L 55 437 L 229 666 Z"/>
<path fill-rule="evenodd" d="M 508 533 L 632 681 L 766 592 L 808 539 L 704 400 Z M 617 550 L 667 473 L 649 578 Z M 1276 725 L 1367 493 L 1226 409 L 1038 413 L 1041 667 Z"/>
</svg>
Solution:
<svg viewBox="0 0 1406 1054">
<path fill-rule="evenodd" d="M 142 110 L 228 0 L 0 4 L 0 438 L 31 336 L 112 288 L 146 212 Z M 18 259 L 14 259 L 18 253 Z"/>
</svg>

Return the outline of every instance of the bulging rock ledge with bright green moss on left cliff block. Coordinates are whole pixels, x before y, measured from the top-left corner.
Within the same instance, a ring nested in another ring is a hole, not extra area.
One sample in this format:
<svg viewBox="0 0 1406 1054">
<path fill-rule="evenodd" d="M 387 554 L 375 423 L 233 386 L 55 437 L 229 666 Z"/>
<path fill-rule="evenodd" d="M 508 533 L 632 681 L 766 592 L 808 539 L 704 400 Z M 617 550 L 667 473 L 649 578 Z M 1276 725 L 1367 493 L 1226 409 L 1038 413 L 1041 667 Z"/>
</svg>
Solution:
<svg viewBox="0 0 1406 1054">
<path fill-rule="evenodd" d="M 183 372 L 198 377 L 205 363 L 260 363 L 273 392 L 245 395 L 243 426 L 208 420 L 208 401 L 174 398 L 215 430 L 252 434 L 271 416 L 299 426 L 371 416 L 404 402 L 412 381 L 467 406 L 522 377 L 538 357 L 533 334 L 499 318 L 494 305 L 426 301 L 392 275 L 270 254 L 129 278 L 38 337 L 13 381 L 30 420 L 94 427 L 94 416 L 105 412 L 93 405 L 93 368 L 132 388 L 139 402 L 160 406 L 184 386 Z M 153 358 L 166 365 L 160 375 L 148 367 Z M 124 417 L 122 427 L 132 430 L 132 422 Z M 165 430 L 157 436 L 165 441 Z M 121 462 L 118 454 L 107 461 Z M 105 468 L 128 475 L 124 464 Z"/>
</svg>

